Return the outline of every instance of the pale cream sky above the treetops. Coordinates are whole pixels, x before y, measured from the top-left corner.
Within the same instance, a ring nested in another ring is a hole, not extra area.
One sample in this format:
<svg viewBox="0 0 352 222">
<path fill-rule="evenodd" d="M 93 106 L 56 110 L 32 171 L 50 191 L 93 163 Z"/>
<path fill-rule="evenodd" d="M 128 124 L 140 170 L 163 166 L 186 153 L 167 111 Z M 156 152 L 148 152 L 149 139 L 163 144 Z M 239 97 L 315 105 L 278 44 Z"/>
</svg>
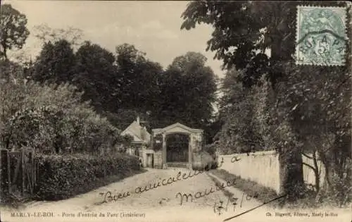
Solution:
<svg viewBox="0 0 352 222">
<path fill-rule="evenodd" d="M 181 14 L 188 1 L 11 1 L 13 8 L 27 16 L 27 28 L 46 23 L 51 28 L 79 28 L 83 40 L 115 51 L 119 44 L 133 44 L 146 57 L 166 68 L 172 60 L 187 51 L 200 52 L 214 73 L 224 76 L 221 61 L 206 51 L 213 27 L 199 25 L 193 30 L 180 30 Z M 33 34 L 33 32 L 32 32 Z M 35 56 L 40 51 L 38 40 L 30 35 L 23 51 Z M 20 51 L 13 54 L 18 54 Z"/>
</svg>

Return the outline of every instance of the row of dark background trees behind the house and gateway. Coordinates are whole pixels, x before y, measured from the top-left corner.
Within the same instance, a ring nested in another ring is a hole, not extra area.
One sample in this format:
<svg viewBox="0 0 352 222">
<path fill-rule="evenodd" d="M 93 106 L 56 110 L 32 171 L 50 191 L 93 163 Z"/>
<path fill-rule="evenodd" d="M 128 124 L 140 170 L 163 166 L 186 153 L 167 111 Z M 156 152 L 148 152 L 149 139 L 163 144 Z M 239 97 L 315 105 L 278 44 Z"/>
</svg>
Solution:
<svg viewBox="0 0 352 222">
<path fill-rule="evenodd" d="M 45 26 L 39 30 L 42 39 L 51 33 Z M 176 121 L 196 128 L 210 125 L 216 78 L 203 55 L 178 56 L 164 71 L 131 44 L 118 45 L 113 54 L 84 42 L 73 53 L 68 40 L 54 40 L 44 43 L 26 75 L 39 82 L 75 85 L 84 92 L 82 101 L 91 101 L 95 111 L 116 127 L 127 127 L 136 116 L 149 130 Z"/>
</svg>

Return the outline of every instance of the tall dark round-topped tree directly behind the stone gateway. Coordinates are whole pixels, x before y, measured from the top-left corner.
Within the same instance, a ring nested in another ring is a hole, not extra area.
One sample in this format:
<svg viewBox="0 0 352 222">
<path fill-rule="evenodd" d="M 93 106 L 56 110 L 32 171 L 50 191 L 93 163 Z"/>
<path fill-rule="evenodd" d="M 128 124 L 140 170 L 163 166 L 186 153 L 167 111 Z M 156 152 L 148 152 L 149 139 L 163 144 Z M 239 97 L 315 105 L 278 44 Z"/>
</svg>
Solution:
<svg viewBox="0 0 352 222">
<path fill-rule="evenodd" d="M 205 128 L 213 118 L 216 78 L 206 57 L 195 52 L 178 56 L 163 74 L 161 109 L 164 124 L 182 121 L 193 128 Z M 164 125 L 165 126 L 165 125 Z"/>
</svg>

